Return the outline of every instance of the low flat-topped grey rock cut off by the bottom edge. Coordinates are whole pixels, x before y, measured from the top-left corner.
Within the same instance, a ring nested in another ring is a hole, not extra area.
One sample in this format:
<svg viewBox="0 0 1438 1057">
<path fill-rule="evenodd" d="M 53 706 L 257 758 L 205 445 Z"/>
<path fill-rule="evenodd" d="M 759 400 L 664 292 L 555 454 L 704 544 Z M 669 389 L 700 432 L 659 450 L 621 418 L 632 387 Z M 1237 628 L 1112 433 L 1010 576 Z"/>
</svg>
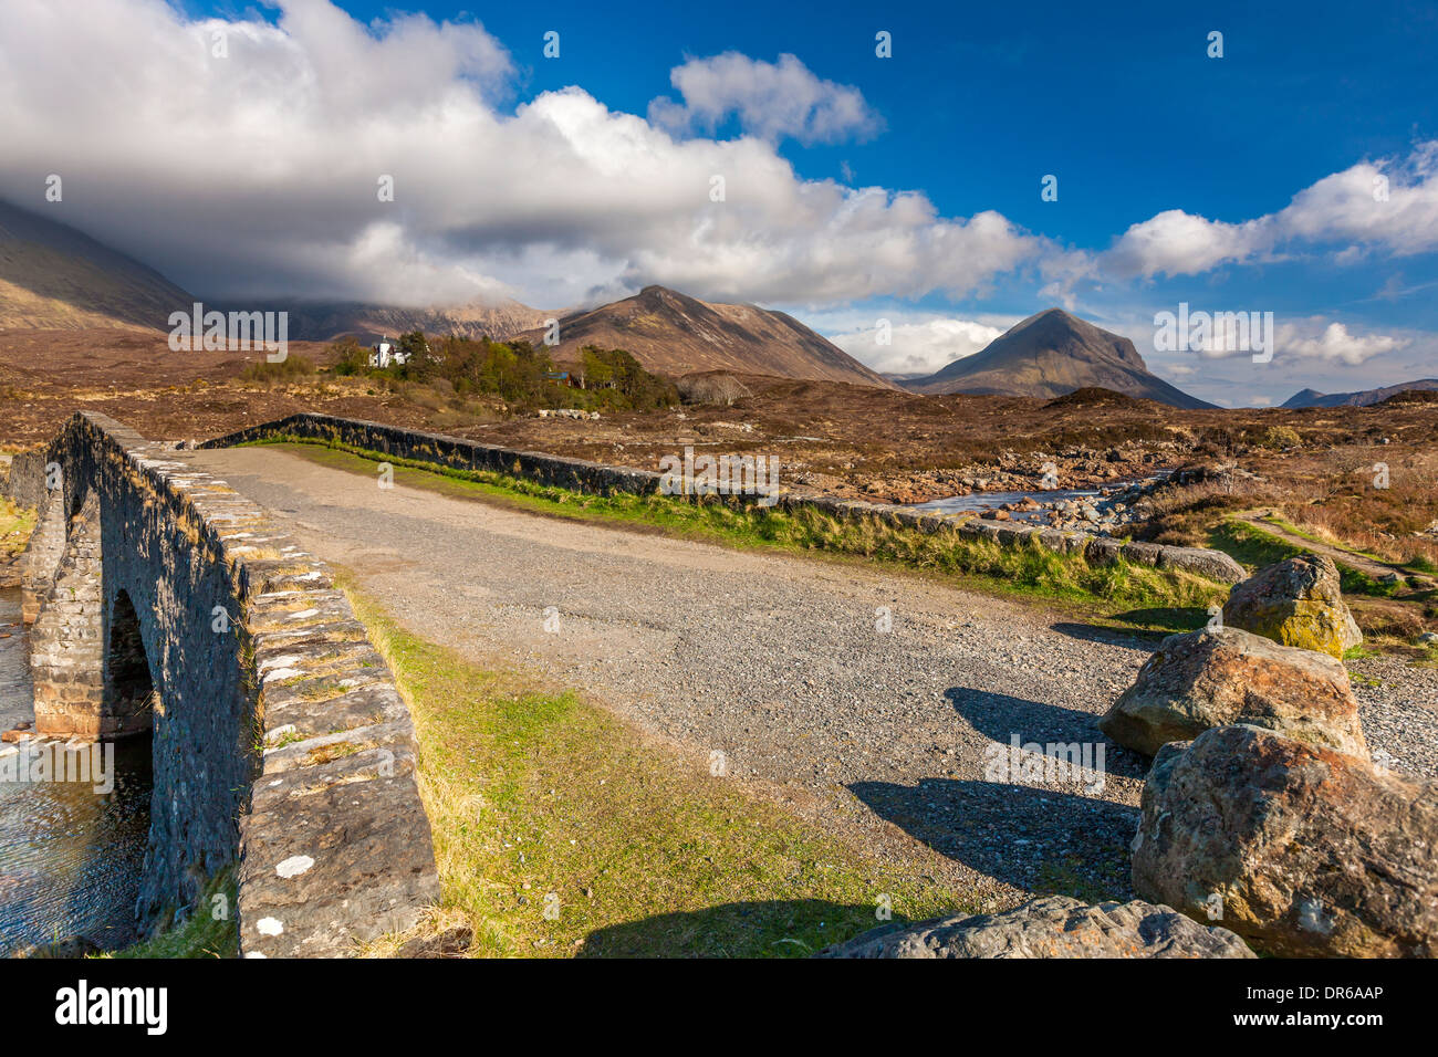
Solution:
<svg viewBox="0 0 1438 1057">
<path fill-rule="evenodd" d="M 1090 906 L 1044 896 L 997 915 L 892 923 L 821 958 L 1252 958 L 1232 932 L 1140 900 Z"/>
</svg>

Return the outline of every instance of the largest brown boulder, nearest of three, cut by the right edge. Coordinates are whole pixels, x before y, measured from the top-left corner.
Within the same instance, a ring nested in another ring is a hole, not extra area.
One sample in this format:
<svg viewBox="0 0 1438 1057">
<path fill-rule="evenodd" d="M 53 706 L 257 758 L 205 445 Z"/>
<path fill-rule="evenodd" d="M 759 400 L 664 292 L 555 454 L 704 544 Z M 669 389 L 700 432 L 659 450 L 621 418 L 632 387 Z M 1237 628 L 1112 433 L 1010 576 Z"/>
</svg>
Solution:
<svg viewBox="0 0 1438 1057">
<path fill-rule="evenodd" d="M 1171 742 L 1133 889 L 1283 956 L 1438 956 L 1438 784 L 1257 726 Z"/>
</svg>

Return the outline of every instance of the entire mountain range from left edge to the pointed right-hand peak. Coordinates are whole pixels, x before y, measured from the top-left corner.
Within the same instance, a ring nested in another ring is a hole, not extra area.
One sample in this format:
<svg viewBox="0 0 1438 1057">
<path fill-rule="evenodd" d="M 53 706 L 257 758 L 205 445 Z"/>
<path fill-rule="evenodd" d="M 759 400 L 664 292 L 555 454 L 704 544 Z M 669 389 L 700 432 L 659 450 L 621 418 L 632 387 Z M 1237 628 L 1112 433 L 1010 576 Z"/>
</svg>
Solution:
<svg viewBox="0 0 1438 1057">
<path fill-rule="evenodd" d="M 201 298 L 73 227 L 0 201 L 0 328 L 164 331 L 173 312 L 188 311 L 196 301 Z M 234 308 L 219 299 L 207 306 Z M 525 338 L 538 345 L 546 337 L 546 321 L 558 319 L 559 344 L 552 355 L 567 362 L 575 361 L 584 345 L 600 345 L 628 349 L 649 370 L 674 377 L 725 370 L 917 393 L 1041 398 L 1097 387 L 1173 407 L 1212 407 L 1149 372 L 1127 338 L 1057 308 L 1017 324 L 976 355 L 900 384 L 784 312 L 709 303 L 664 286 L 646 286 L 634 296 L 569 312 L 516 301 L 414 309 L 267 299 L 265 309 L 289 312 L 289 338 L 295 341 L 331 341 L 345 334 L 372 341 L 420 329 Z"/>
</svg>

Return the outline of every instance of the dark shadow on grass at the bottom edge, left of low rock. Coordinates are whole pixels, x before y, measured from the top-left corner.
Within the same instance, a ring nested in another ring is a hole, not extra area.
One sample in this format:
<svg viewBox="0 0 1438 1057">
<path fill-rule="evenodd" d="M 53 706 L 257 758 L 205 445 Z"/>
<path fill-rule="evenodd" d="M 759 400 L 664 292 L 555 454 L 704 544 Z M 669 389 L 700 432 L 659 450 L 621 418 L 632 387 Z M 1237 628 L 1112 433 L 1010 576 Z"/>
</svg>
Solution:
<svg viewBox="0 0 1438 1057">
<path fill-rule="evenodd" d="M 824 899 L 720 903 L 595 929 L 580 958 L 804 958 L 866 932 L 873 903 Z"/>
</svg>

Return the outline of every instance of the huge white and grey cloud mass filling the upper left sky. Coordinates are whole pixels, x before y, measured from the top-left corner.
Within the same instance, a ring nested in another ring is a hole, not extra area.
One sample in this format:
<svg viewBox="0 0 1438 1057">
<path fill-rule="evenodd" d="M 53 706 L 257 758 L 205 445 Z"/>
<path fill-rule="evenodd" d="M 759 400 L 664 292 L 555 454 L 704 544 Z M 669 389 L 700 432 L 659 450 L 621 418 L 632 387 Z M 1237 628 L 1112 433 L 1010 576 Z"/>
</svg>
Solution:
<svg viewBox="0 0 1438 1057">
<path fill-rule="evenodd" d="M 965 296 L 1060 253 L 998 213 L 804 180 L 762 138 L 676 139 L 580 88 L 505 111 L 512 62 L 476 23 L 280 7 L 269 24 L 188 22 L 161 0 L 89 0 L 83 19 L 6 0 L 0 196 L 211 298 L 557 308 L 661 282 L 835 305 Z M 802 129 L 851 129 L 846 98 L 811 93 Z M 47 173 L 60 204 L 43 200 Z"/>
</svg>

